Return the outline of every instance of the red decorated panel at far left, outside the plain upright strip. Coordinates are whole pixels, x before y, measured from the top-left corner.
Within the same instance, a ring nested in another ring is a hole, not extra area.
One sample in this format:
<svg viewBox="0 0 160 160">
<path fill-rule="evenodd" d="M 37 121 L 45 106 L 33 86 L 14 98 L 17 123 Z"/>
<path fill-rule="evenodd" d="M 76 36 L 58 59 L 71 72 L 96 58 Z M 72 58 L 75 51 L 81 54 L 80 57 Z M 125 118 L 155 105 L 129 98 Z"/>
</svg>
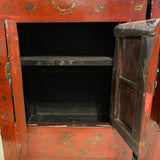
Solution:
<svg viewBox="0 0 160 160">
<path fill-rule="evenodd" d="M 0 128 L 5 160 L 18 160 L 12 93 L 6 78 L 8 62 L 4 22 L 0 22 Z"/>
</svg>

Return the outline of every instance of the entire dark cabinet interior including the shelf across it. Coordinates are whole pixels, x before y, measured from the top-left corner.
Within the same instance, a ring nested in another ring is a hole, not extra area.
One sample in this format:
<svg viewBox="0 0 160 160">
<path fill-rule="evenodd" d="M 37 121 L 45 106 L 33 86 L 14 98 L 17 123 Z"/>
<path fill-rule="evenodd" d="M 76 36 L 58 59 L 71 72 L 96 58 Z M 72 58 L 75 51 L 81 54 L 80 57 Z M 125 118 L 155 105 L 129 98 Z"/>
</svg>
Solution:
<svg viewBox="0 0 160 160">
<path fill-rule="evenodd" d="M 109 121 L 115 25 L 18 24 L 28 123 Z"/>
</svg>

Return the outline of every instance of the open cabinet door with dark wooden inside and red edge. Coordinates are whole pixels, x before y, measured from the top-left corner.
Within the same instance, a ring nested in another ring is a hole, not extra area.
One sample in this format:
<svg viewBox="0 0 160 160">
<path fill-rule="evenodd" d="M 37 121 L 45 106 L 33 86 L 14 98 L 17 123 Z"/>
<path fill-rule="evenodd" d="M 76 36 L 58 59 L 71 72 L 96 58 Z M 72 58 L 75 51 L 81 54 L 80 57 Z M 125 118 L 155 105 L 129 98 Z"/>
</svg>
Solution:
<svg viewBox="0 0 160 160">
<path fill-rule="evenodd" d="M 160 19 L 115 27 L 110 119 L 133 152 L 145 157 L 159 53 Z"/>
</svg>

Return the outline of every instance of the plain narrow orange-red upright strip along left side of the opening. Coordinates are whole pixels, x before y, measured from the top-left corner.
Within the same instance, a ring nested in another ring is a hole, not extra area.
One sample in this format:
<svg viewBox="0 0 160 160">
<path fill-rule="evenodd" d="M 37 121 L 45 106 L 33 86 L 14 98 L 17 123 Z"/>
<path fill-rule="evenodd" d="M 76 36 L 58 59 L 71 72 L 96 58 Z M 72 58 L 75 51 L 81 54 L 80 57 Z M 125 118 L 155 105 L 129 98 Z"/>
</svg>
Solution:
<svg viewBox="0 0 160 160">
<path fill-rule="evenodd" d="M 25 119 L 25 108 L 22 87 L 22 74 L 19 54 L 19 44 L 17 35 L 17 25 L 13 21 L 5 21 L 8 54 L 11 71 L 12 92 L 15 109 L 15 120 L 17 127 L 17 140 L 20 155 L 27 152 L 27 130 Z"/>
</svg>

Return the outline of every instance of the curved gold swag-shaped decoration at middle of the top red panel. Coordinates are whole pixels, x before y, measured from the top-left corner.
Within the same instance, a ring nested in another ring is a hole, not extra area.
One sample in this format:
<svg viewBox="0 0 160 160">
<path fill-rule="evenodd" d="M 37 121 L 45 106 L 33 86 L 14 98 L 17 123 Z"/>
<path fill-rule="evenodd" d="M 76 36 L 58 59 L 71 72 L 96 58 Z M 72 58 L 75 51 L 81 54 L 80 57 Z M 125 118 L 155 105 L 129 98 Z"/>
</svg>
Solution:
<svg viewBox="0 0 160 160">
<path fill-rule="evenodd" d="M 78 0 L 75 1 L 70 8 L 61 8 L 59 4 L 55 3 L 55 1 L 52 1 L 52 6 L 54 6 L 56 9 L 60 11 L 60 14 L 72 14 L 72 9 L 78 6 Z"/>
</svg>

